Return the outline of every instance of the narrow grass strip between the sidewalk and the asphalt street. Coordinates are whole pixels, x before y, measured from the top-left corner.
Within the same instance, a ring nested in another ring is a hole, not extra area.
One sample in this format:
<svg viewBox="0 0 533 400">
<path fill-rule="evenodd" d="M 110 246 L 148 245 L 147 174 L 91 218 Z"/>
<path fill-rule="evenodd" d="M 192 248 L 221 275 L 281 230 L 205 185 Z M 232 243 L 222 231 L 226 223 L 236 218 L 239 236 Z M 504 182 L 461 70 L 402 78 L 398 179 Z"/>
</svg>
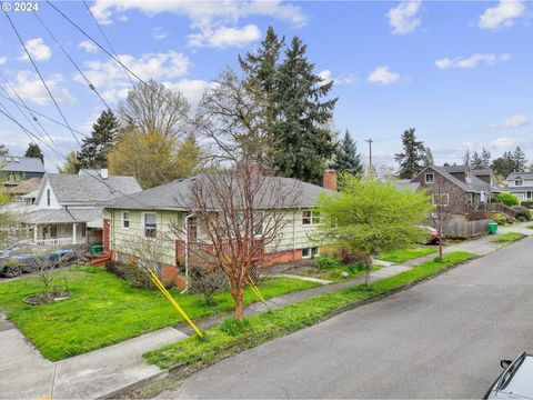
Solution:
<svg viewBox="0 0 533 400">
<path fill-rule="evenodd" d="M 193 371 L 195 368 L 210 364 L 243 349 L 315 324 L 326 319 L 331 311 L 358 300 L 388 293 L 472 258 L 474 256 L 471 253 L 456 251 L 444 256 L 443 260 L 426 261 L 409 271 L 379 280 L 372 283 L 370 289 L 359 286 L 321 294 L 281 309 L 257 313 L 247 318 L 243 326 L 239 326 L 234 319 L 227 319 L 220 326 L 209 329 L 203 340 L 193 336 L 178 343 L 150 351 L 144 354 L 144 358 L 160 368 L 170 368 L 187 362 L 192 367 L 190 370 Z"/>
</svg>

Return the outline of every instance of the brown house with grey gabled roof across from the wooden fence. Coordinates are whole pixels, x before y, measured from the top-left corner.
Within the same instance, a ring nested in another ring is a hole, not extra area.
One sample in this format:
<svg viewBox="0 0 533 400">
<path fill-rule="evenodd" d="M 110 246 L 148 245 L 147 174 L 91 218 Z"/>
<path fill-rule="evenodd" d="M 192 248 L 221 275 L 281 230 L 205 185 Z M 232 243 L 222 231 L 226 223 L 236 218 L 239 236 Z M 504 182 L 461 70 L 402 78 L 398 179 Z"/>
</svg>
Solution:
<svg viewBox="0 0 533 400">
<path fill-rule="evenodd" d="M 432 192 L 434 201 L 439 196 L 444 204 L 464 204 L 464 212 L 473 206 L 491 202 L 492 194 L 501 191 L 493 184 L 492 170 L 471 170 L 465 166 L 430 166 L 411 182 Z"/>
</svg>

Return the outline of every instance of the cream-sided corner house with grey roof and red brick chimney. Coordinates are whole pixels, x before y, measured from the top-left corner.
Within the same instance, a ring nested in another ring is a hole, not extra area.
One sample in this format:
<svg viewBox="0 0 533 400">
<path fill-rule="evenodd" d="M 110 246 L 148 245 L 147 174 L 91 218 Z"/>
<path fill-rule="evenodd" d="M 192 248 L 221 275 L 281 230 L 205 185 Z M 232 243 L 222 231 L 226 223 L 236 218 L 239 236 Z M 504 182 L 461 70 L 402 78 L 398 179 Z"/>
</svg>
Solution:
<svg viewBox="0 0 533 400">
<path fill-rule="evenodd" d="M 113 260 L 128 260 L 128 243 L 135 238 L 152 238 L 165 236 L 170 238 L 164 244 L 164 261 L 162 276 L 175 279 L 178 287 L 184 286 L 184 280 L 178 274 L 185 247 L 197 243 L 202 237 L 201 228 L 197 226 L 193 210 L 188 204 L 188 193 L 195 178 L 173 181 L 157 188 L 123 197 L 104 210 L 104 251 L 109 251 Z M 299 182 L 289 178 L 269 178 L 275 186 L 285 188 L 298 186 L 300 192 L 296 202 L 291 204 L 286 214 L 286 222 L 279 240 L 266 246 L 264 252 L 272 256 L 275 262 L 300 260 L 318 256 L 319 248 L 308 238 L 308 233 L 315 230 L 319 222 L 313 214 L 318 194 L 332 192 L 336 189 L 336 172 L 326 171 L 324 186 Z M 272 204 L 258 206 L 258 212 L 268 212 Z M 171 227 L 182 227 L 180 232 Z M 262 228 L 261 228 L 262 229 Z M 187 239 L 185 239 L 187 238 Z"/>
</svg>

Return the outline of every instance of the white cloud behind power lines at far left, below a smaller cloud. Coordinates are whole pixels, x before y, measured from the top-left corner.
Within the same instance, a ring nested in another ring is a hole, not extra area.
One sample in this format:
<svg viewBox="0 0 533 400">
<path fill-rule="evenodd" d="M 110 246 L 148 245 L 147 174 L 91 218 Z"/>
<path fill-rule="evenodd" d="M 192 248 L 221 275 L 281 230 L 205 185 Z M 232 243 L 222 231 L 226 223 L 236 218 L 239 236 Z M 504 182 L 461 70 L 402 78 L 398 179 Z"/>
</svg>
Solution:
<svg viewBox="0 0 533 400">
<path fill-rule="evenodd" d="M 44 81 L 58 103 L 73 103 L 76 101 L 69 90 L 61 86 L 64 82 L 64 78 L 60 73 L 56 73 L 44 79 Z M 47 106 L 52 102 L 41 80 L 33 72 L 19 71 L 14 86 L 19 96 L 24 100 L 32 101 L 39 106 Z"/>
</svg>

